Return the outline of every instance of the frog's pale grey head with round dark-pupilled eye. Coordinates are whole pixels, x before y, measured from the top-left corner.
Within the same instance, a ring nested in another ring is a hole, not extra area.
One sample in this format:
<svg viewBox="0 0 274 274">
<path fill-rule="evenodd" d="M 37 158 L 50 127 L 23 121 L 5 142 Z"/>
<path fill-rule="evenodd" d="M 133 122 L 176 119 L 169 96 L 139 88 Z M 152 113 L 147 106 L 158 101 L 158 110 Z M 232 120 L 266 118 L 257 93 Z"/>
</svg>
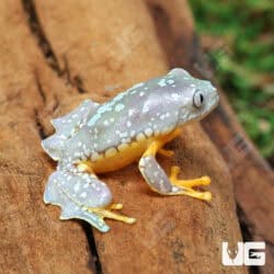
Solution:
<svg viewBox="0 0 274 274">
<path fill-rule="evenodd" d="M 209 81 L 193 78 L 184 69 L 172 69 L 168 77 L 174 80 L 180 100 L 179 124 L 202 119 L 217 106 L 219 95 Z"/>
</svg>

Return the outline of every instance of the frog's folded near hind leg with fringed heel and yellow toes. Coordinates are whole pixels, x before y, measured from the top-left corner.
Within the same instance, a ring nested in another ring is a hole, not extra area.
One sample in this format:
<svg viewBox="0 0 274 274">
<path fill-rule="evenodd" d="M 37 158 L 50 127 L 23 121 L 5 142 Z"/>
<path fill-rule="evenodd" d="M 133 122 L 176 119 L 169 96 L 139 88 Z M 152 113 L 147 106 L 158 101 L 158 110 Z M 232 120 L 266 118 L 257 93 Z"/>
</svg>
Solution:
<svg viewBox="0 0 274 274">
<path fill-rule="evenodd" d="M 87 172 L 76 173 L 58 169 L 49 176 L 44 201 L 61 207 L 60 219 L 83 219 L 102 232 L 110 229 L 104 218 L 127 224 L 135 221 L 134 218 L 113 212 L 123 206 L 112 204 L 107 185 Z"/>
</svg>

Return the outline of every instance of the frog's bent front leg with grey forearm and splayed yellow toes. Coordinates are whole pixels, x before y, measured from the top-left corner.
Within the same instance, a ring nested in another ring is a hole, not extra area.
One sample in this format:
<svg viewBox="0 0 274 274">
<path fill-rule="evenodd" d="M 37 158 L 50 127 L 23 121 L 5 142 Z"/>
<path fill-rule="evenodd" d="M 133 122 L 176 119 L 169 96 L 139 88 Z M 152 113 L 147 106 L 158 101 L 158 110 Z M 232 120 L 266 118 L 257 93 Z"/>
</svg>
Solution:
<svg viewBox="0 0 274 274">
<path fill-rule="evenodd" d="M 187 195 L 198 199 L 210 201 L 210 192 L 198 192 L 192 189 L 193 186 L 209 184 L 209 178 L 178 180 L 176 175 L 180 171 L 178 167 L 172 168 L 171 175 L 168 178 L 156 160 L 156 153 L 161 146 L 161 141 L 152 141 L 139 161 L 139 170 L 148 185 L 163 195 Z"/>
</svg>

